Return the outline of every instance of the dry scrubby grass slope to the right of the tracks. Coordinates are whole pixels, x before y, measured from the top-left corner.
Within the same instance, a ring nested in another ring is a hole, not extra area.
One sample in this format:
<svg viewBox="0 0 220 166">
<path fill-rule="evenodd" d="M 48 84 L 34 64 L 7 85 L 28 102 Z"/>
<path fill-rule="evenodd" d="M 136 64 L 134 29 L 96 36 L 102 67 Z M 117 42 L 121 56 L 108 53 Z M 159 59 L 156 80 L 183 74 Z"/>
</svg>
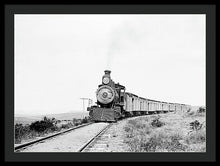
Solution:
<svg viewBox="0 0 220 166">
<path fill-rule="evenodd" d="M 192 123 L 192 122 L 197 123 Z M 192 127 L 200 125 L 200 127 Z M 205 113 L 167 113 L 129 120 L 124 141 L 132 152 L 205 152 Z"/>
</svg>

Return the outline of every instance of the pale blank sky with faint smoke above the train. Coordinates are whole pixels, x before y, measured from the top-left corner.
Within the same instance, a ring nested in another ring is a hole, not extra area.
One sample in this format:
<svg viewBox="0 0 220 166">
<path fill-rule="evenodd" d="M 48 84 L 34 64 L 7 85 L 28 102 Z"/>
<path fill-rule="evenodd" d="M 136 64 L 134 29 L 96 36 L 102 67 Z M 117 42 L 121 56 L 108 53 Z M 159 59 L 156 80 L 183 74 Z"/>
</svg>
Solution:
<svg viewBox="0 0 220 166">
<path fill-rule="evenodd" d="M 15 114 L 86 111 L 80 98 L 95 104 L 106 69 L 140 97 L 205 106 L 205 21 L 202 14 L 16 14 Z"/>
</svg>

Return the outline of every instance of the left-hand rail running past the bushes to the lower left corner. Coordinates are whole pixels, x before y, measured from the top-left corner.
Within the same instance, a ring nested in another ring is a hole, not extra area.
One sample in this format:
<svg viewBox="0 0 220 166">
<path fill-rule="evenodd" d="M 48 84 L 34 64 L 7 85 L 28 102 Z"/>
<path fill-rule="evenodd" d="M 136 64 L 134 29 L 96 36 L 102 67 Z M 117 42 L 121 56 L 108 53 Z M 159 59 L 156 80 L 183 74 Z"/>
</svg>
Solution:
<svg viewBox="0 0 220 166">
<path fill-rule="evenodd" d="M 34 145 L 34 144 L 36 144 L 36 143 L 39 143 L 39 142 L 41 142 L 41 141 L 44 141 L 44 140 L 47 140 L 47 139 L 56 137 L 56 136 L 58 136 L 58 135 L 61 135 L 61 134 L 70 132 L 70 131 L 75 130 L 75 129 L 78 129 L 78 128 L 82 128 L 82 127 L 91 125 L 91 124 L 93 124 L 93 123 L 94 123 L 94 122 L 90 122 L 90 123 L 86 123 L 86 124 L 83 124 L 83 125 L 79 125 L 79 126 L 76 126 L 76 127 L 71 128 L 71 129 L 68 129 L 68 130 L 65 130 L 65 131 L 62 131 L 62 132 L 58 132 L 58 133 L 56 133 L 56 134 L 53 134 L 53 135 L 50 135 L 50 136 L 47 136 L 47 137 L 44 137 L 44 138 L 40 138 L 40 139 L 31 141 L 31 142 L 28 142 L 28 143 L 24 143 L 24 144 L 15 146 L 15 147 L 14 147 L 14 150 L 15 150 L 15 152 L 20 151 L 20 150 L 22 150 L 22 149 L 24 149 L 24 148 L 27 148 L 27 147 L 29 147 L 29 146 L 31 146 L 31 145 Z"/>
</svg>

